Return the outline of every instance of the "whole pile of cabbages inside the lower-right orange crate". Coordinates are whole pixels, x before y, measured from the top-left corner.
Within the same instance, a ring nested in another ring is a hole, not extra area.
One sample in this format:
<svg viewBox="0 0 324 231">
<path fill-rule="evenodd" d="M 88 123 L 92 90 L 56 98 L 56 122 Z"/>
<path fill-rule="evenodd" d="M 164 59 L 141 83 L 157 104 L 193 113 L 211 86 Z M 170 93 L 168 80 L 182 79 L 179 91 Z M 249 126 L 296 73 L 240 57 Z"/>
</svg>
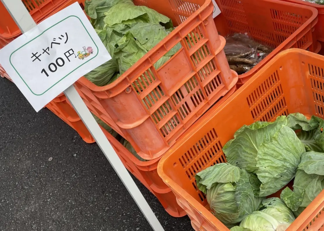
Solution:
<svg viewBox="0 0 324 231">
<path fill-rule="evenodd" d="M 224 145 L 227 163 L 195 176 L 213 214 L 231 231 L 286 230 L 324 189 L 323 127 L 300 113 L 241 127 Z"/>
</svg>

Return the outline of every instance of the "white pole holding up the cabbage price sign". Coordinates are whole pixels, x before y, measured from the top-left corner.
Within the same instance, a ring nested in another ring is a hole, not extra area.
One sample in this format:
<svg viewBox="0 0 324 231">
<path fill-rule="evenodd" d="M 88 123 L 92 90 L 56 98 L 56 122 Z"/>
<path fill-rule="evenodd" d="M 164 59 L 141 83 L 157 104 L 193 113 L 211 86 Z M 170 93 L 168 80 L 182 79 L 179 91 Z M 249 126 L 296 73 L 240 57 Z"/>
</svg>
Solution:
<svg viewBox="0 0 324 231">
<path fill-rule="evenodd" d="M 25 33 L 28 30 L 32 29 L 36 26 L 35 21 L 30 16 L 29 12 L 21 2 L 21 0 L 1 0 L 4 6 L 6 6 L 7 10 L 9 11 L 12 18 L 17 23 L 19 29 Z M 125 166 L 122 164 L 121 160 L 117 156 L 116 152 L 112 148 L 111 144 L 109 143 L 107 137 L 100 129 L 98 123 L 91 115 L 90 111 L 88 110 L 86 104 L 83 102 L 82 98 L 77 93 L 75 87 L 72 85 L 64 91 L 64 94 L 68 98 L 68 100 L 73 105 L 74 109 L 78 113 L 79 117 L 86 125 L 87 129 L 96 140 L 98 146 L 100 147 L 101 151 L 104 153 L 108 161 L 110 162 L 111 166 L 116 171 L 117 175 L 126 186 L 127 190 L 133 197 L 134 201 L 144 214 L 145 218 L 155 231 L 164 231 L 162 225 L 157 220 L 155 214 L 153 213 L 152 209 L 146 202 L 144 196 L 137 188 L 135 182 L 133 181 L 132 177 L 128 173 Z"/>
</svg>

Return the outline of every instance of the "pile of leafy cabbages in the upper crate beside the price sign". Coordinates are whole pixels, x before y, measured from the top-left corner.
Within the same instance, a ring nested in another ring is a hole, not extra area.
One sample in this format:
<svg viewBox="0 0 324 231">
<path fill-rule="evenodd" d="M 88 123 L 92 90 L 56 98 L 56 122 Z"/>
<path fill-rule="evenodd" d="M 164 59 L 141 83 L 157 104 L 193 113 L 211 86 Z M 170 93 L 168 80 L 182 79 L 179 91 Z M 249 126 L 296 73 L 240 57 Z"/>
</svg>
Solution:
<svg viewBox="0 0 324 231">
<path fill-rule="evenodd" d="M 85 77 L 105 86 L 120 77 L 173 29 L 170 18 L 132 0 L 87 0 L 85 11 L 112 57 Z M 173 47 L 154 67 L 158 69 L 181 48 Z"/>
</svg>

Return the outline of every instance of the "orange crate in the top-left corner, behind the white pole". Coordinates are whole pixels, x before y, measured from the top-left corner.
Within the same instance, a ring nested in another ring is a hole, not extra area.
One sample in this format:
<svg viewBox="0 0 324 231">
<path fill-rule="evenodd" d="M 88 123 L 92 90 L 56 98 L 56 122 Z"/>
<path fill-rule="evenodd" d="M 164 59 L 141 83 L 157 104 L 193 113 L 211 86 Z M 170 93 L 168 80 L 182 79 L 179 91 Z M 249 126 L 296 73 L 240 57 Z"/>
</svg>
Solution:
<svg viewBox="0 0 324 231">
<path fill-rule="evenodd" d="M 53 14 L 57 8 L 59 10 L 65 8 L 66 6 L 75 3 L 77 0 L 21 0 L 25 7 L 27 8 L 29 14 L 33 17 L 36 23 L 41 22 L 49 15 Z M 78 0 L 77 2 L 80 5 L 84 5 L 85 0 Z M 56 10 L 55 12 L 58 12 Z M 10 16 L 9 12 L 7 11 L 6 7 L 0 2 L 0 36 L 5 39 L 9 40 L 13 39 L 21 34 L 20 29 L 18 28 L 15 21 Z M 1 44 L 0 44 L 1 45 Z"/>
</svg>

